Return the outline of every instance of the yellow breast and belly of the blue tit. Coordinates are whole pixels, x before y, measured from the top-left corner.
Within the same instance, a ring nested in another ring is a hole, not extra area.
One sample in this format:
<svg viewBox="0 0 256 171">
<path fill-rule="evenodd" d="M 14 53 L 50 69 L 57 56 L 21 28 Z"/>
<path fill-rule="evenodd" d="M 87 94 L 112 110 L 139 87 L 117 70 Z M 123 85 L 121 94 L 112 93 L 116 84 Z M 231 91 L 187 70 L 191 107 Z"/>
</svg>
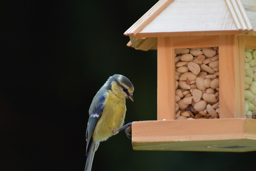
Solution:
<svg viewBox="0 0 256 171">
<path fill-rule="evenodd" d="M 111 91 L 107 93 L 106 104 L 93 133 L 95 141 L 104 141 L 114 135 L 113 129 L 121 127 L 126 114 L 126 100 L 119 99 Z"/>
</svg>

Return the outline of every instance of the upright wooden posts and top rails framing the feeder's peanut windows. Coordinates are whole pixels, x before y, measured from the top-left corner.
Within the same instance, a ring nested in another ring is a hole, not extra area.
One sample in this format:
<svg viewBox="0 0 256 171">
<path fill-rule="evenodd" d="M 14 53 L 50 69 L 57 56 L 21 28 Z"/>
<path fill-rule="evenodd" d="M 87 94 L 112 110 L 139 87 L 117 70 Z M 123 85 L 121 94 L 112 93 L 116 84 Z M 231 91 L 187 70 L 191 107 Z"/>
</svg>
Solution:
<svg viewBox="0 0 256 171">
<path fill-rule="evenodd" d="M 175 120 L 174 49 L 219 46 L 220 118 L 244 118 L 244 49 L 256 37 L 158 37 L 158 120 Z"/>
</svg>

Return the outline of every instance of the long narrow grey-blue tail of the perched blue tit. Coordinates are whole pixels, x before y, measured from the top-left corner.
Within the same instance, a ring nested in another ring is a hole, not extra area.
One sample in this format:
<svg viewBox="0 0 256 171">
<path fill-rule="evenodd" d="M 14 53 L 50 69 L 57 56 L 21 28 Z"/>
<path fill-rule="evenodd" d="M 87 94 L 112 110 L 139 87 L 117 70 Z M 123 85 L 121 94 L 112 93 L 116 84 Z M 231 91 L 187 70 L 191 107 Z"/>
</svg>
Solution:
<svg viewBox="0 0 256 171">
<path fill-rule="evenodd" d="M 91 142 L 89 145 L 88 156 L 87 156 L 87 160 L 86 160 L 86 165 L 85 165 L 85 171 L 91 171 L 94 153 L 98 149 L 98 147 L 99 147 L 99 142 L 94 142 L 94 140 L 91 139 Z"/>
</svg>

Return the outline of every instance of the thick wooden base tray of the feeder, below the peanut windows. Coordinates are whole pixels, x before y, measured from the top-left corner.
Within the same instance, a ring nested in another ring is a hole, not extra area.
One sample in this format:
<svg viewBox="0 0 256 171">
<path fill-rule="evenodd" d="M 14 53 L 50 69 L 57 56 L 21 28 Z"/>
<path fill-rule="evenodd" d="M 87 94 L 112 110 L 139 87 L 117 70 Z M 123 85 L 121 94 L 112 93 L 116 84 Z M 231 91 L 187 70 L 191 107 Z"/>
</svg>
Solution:
<svg viewBox="0 0 256 171">
<path fill-rule="evenodd" d="M 256 151 L 256 120 L 133 122 L 132 144 L 135 150 Z"/>
</svg>

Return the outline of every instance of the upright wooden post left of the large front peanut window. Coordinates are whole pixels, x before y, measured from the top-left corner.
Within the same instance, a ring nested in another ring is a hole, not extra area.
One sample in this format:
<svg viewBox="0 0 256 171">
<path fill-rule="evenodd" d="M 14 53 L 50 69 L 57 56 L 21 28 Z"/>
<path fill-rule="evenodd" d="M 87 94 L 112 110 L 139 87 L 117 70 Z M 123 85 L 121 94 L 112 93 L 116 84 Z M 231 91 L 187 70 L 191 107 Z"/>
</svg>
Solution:
<svg viewBox="0 0 256 171">
<path fill-rule="evenodd" d="M 158 37 L 157 120 L 175 120 L 175 57 L 171 37 Z"/>
</svg>

